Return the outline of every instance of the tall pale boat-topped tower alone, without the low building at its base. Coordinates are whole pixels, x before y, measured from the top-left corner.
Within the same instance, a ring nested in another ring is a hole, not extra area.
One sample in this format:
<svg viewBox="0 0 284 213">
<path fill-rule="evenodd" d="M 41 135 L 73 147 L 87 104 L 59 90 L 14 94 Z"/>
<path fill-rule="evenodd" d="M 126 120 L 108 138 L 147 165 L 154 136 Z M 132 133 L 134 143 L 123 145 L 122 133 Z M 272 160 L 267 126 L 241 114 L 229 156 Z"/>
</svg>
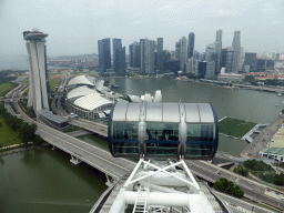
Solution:
<svg viewBox="0 0 284 213">
<path fill-rule="evenodd" d="M 48 100 L 48 71 L 45 38 L 48 34 L 33 29 L 24 31 L 23 39 L 27 41 L 27 51 L 30 62 L 30 90 L 28 106 L 32 106 L 38 115 L 40 110 L 49 110 Z"/>
</svg>

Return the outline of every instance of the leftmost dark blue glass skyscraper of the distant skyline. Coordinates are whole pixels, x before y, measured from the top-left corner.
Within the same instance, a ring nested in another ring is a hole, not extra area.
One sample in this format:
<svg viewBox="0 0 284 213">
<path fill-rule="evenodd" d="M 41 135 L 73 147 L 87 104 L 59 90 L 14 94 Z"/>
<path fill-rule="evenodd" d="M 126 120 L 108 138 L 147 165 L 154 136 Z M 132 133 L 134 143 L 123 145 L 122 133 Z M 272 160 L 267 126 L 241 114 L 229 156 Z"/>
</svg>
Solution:
<svg viewBox="0 0 284 213">
<path fill-rule="evenodd" d="M 103 75 L 106 69 L 111 69 L 111 41 L 102 39 L 98 41 L 100 74 Z"/>
</svg>

